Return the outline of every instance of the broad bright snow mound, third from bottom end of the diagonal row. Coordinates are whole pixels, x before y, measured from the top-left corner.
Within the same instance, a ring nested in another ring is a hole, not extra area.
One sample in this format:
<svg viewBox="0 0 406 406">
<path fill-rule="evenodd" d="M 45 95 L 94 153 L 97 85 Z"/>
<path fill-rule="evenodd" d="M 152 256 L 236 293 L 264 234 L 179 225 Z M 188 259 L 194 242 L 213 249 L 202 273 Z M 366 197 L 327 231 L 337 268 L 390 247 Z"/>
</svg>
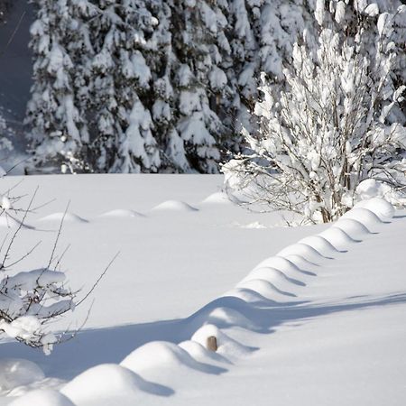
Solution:
<svg viewBox="0 0 406 406">
<path fill-rule="evenodd" d="M 215 372 L 210 365 L 198 363 L 180 346 L 167 341 L 152 341 L 134 350 L 120 363 L 135 374 L 152 369 L 187 367 L 205 373 Z"/>
</svg>

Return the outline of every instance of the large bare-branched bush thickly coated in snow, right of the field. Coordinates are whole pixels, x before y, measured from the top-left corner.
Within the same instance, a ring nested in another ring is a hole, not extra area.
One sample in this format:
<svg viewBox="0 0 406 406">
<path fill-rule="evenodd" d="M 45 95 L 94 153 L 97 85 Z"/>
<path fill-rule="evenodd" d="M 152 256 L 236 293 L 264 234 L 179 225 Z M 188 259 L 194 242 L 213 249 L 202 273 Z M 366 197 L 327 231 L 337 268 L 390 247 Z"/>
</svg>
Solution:
<svg viewBox="0 0 406 406">
<path fill-rule="evenodd" d="M 291 67 L 283 70 L 286 90 L 263 85 L 261 131 L 245 131 L 251 152 L 224 171 L 228 185 L 245 189 L 252 201 L 328 222 L 354 205 L 365 179 L 404 190 L 406 129 L 390 115 L 405 87 L 392 80 L 395 15 L 374 14 L 376 32 L 362 23 L 351 32 L 324 1 L 317 4 L 318 38 L 308 32 L 294 45 Z M 405 11 L 401 6 L 397 14 Z"/>
</svg>

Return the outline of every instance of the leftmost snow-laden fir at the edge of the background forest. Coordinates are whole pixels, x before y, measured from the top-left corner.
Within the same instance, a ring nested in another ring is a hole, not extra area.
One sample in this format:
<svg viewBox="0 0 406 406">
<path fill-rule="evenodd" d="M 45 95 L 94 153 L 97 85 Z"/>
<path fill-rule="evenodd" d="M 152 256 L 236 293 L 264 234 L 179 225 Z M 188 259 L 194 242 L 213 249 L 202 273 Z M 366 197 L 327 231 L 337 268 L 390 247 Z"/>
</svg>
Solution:
<svg viewBox="0 0 406 406">
<path fill-rule="evenodd" d="M 86 20 L 97 8 L 86 0 L 35 0 L 32 99 L 26 124 L 36 166 L 87 171 L 88 123 L 80 97 L 82 72 L 92 56 Z"/>
</svg>

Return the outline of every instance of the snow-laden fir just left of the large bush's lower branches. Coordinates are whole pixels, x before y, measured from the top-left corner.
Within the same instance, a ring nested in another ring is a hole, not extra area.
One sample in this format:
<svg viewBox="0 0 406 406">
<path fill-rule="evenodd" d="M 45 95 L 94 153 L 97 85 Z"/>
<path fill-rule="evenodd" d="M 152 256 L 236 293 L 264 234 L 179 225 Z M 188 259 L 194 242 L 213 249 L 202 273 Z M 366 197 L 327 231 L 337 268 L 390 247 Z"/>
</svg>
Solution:
<svg viewBox="0 0 406 406">
<path fill-rule="evenodd" d="M 221 2 L 219 2 L 221 3 Z M 189 168 L 217 172 L 219 141 L 225 133 L 220 100 L 227 85 L 226 73 L 219 67 L 228 46 L 226 17 L 216 2 L 188 0 L 172 5 L 172 47 L 176 69 L 176 131 L 183 141 Z"/>
</svg>

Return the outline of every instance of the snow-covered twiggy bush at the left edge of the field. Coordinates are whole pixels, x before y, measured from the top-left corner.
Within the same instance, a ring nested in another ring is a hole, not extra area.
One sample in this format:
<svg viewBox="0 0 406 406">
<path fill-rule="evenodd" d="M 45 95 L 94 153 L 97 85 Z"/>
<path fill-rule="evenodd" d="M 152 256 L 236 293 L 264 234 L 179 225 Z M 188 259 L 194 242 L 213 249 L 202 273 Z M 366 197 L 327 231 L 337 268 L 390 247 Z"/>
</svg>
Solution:
<svg viewBox="0 0 406 406">
<path fill-rule="evenodd" d="M 50 268 L 55 260 L 53 255 L 60 232 L 46 267 L 14 271 L 14 267 L 39 245 L 33 245 L 27 254 L 19 258 L 13 257 L 14 244 L 18 234 L 26 227 L 25 219 L 32 209 L 33 197 L 28 208 L 19 208 L 20 200 L 20 197 L 10 197 L 9 193 L 0 195 L 0 217 L 5 219 L 6 226 L 14 226 L 14 232 L 2 238 L 0 247 L 0 339 L 12 337 L 28 346 L 42 348 L 49 354 L 52 346 L 59 343 L 63 336 L 56 335 L 50 325 L 75 308 L 76 292 L 66 286 L 63 272 Z"/>
</svg>

